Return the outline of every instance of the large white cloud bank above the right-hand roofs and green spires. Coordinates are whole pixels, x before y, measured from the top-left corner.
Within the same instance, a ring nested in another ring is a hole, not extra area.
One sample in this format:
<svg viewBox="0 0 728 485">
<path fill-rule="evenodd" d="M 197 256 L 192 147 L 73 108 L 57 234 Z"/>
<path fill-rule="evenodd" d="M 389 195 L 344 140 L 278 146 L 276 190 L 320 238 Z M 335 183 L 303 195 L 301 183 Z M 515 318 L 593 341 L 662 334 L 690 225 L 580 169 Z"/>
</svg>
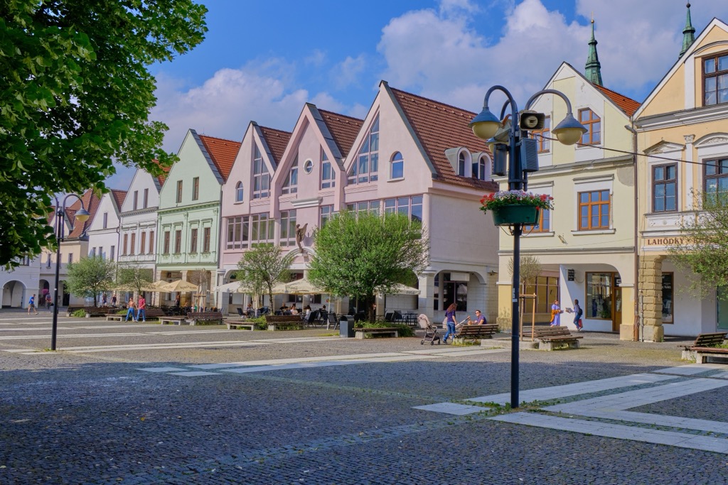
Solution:
<svg viewBox="0 0 728 485">
<path fill-rule="evenodd" d="M 584 71 L 588 19 L 594 12 L 605 86 L 642 97 L 645 87 L 652 89 L 676 62 L 681 47 L 684 3 L 669 8 L 666 3 L 577 0 L 582 18 L 568 23 L 541 0 L 502 1 L 504 28 L 494 32 L 476 30 L 475 9 L 467 0 L 443 0 L 437 12 L 406 12 L 384 27 L 377 47 L 387 65 L 381 77 L 392 87 L 472 111 L 494 84 L 502 84 L 523 103 L 542 89 L 562 61 Z M 713 16 L 728 18 L 728 2 L 705 3 L 692 7 L 693 25 L 705 25 Z"/>
</svg>

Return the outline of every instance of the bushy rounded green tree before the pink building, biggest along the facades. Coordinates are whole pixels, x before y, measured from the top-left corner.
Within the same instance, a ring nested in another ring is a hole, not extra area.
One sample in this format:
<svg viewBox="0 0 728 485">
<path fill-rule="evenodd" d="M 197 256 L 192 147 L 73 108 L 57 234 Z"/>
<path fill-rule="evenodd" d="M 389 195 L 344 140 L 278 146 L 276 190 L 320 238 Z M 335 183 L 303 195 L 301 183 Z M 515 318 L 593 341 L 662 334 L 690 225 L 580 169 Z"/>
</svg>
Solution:
<svg viewBox="0 0 728 485">
<path fill-rule="evenodd" d="M 313 284 L 339 297 L 365 300 L 374 321 L 374 295 L 407 281 L 427 265 L 430 242 L 422 223 L 399 213 L 340 212 L 314 231 Z"/>
</svg>

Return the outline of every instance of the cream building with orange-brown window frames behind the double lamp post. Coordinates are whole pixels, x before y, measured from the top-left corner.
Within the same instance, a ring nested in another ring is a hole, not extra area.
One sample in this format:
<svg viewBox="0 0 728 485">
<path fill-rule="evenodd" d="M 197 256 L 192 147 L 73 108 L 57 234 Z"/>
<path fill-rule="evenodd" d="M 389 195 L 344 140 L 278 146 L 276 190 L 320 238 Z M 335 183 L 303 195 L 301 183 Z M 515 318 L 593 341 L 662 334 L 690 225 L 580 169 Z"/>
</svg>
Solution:
<svg viewBox="0 0 728 485">
<path fill-rule="evenodd" d="M 535 284 L 521 294 L 530 322 L 549 321 L 551 305 L 584 310 L 587 330 L 620 332 L 633 339 L 636 308 L 634 137 L 630 115 L 639 103 L 601 85 L 601 71 L 592 37 L 586 75 L 562 63 L 544 89 L 563 92 L 574 116 L 587 127 L 577 145 L 550 140 L 550 129 L 566 115 L 561 97 L 542 95 L 531 109 L 547 116 L 545 128 L 534 132 L 539 171 L 529 174 L 528 191 L 553 196 L 554 209 L 542 211 L 537 225 L 524 228 L 521 256 L 536 257 L 542 265 Z M 588 79 L 587 79 L 588 78 Z M 608 148 L 617 149 L 610 151 Z M 622 152 L 626 153 L 622 153 Z M 498 180 L 507 190 L 507 180 Z M 513 237 L 501 232 L 499 250 L 499 323 L 510 326 Z M 576 329 L 564 313 L 561 325 Z"/>
</svg>

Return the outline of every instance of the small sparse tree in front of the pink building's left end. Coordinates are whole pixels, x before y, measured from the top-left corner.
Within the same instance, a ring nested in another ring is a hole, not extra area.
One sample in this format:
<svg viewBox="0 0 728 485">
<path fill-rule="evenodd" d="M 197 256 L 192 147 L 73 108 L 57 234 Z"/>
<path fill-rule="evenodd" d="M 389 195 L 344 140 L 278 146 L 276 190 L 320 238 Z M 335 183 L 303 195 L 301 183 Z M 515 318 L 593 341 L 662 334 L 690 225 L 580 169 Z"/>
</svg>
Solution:
<svg viewBox="0 0 728 485">
<path fill-rule="evenodd" d="M 273 286 L 290 281 L 290 265 L 293 254 L 283 254 L 280 246 L 255 244 L 244 252 L 237 263 L 237 281 L 242 288 L 261 295 L 266 290 L 273 304 Z"/>
</svg>

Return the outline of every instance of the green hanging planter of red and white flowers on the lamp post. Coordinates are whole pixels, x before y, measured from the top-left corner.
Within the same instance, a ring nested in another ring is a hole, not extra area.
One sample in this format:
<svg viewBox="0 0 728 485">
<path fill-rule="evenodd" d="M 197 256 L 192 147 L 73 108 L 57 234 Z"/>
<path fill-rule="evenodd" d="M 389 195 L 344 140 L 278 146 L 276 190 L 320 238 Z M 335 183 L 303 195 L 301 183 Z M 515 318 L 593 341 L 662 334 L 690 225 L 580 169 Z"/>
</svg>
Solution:
<svg viewBox="0 0 728 485">
<path fill-rule="evenodd" d="M 553 197 L 524 191 L 499 191 L 480 199 L 480 210 L 493 214 L 495 225 L 536 224 L 541 209 L 553 209 Z"/>
</svg>

